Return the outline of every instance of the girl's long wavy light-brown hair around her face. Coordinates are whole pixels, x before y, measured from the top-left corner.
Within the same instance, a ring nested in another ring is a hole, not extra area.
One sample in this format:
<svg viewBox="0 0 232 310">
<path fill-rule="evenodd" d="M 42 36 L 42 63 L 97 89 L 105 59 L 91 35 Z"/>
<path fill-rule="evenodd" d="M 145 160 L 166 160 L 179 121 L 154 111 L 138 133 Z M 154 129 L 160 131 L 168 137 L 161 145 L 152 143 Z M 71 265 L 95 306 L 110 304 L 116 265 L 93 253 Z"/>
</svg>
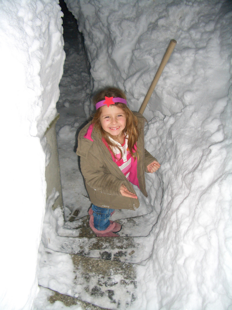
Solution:
<svg viewBox="0 0 232 310">
<path fill-rule="evenodd" d="M 106 97 L 120 97 L 123 99 L 126 99 L 126 95 L 124 94 L 123 91 L 121 91 L 118 88 L 107 88 L 105 90 L 100 91 L 93 99 L 93 104 L 96 106 L 97 102 L 101 101 L 101 100 L 105 100 L 105 96 Z M 139 131 L 138 131 L 138 118 L 131 112 L 131 110 L 127 107 L 126 104 L 124 103 L 115 103 L 115 106 L 118 108 L 121 108 L 124 113 L 126 114 L 126 126 L 123 129 L 123 134 L 124 135 L 128 135 L 128 148 L 129 151 L 131 153 L 131 156 L 133 158 L 137 156 L 139 156 L 137 150 L 135 149 L 135 143 L 138 140 L 139 137 Z M 108 144 L 108 147 L 110 148 L 110 150 L 112 151 L 112 153 L 115 156 L 115 153 L 113 151 L 113 148 L 118 148 L 118 146 L 116 144 L 114 144 L 113 142 L 111 142 L 111 140 L 109 139 L 109 136 L 114 139 L 114 136 L 110 135 L 108 132 L 106 132 L 102 126 L 101 126 L 101 121 L 100 121 L 100 117 L 101 117 L 101 107 L 97 109 L 96 113 L 94 114 L 93 118 L 92 118 L 92 124 L 94 126 L 97 126 L 97 128 L 99 128 L 99 130 L 101 131 L 101 135 L 102 137 L 105 139 L 106 143 Z M 121 153 L 121 158 L 123 156 L 122 151 L 120 150 L 120 148 L 118 148 L 118 150 Z M 121 159 L 120 158 L 120 159 Z"/>
</svg>

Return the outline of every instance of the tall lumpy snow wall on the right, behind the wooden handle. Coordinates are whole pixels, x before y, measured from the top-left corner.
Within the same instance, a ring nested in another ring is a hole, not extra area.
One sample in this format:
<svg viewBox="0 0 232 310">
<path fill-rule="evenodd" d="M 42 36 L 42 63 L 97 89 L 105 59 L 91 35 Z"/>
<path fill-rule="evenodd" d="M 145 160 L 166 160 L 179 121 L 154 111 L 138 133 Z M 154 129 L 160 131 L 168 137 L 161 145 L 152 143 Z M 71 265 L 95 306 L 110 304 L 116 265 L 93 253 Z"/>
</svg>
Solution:
<svg viewBox="0 0 232 310">
<path fill-rule="evenodd" d="M 232 309 L 231 2 L 66 2 L 84 35 L 94 91 L 118 86 L 134 111 L 177 40 L 144 112 L 147 149 L 161 163 L 147 176 L 144 201 L 161 201 L 161 213 L 152 256 L 138 267 L 139 308 Z"/>
</svg>

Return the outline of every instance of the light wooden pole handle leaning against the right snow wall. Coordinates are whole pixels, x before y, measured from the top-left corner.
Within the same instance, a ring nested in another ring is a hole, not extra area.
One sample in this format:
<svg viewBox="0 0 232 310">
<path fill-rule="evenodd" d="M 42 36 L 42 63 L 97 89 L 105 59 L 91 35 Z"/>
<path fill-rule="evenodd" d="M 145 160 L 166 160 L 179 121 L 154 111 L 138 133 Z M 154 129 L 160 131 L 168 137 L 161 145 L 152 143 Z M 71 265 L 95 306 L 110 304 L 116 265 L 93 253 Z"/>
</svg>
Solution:
<svg viewBox="0 0 232 310">
<path fill-rule="evenodd" d="M 140 110 L 139 110 L 140 114 L 144 113 L 144 110 L 145 110 L 145 108 L 146 108 L 146 106 L 148 104 L 148 101 L 151 98 L 151 95 L 152 95 L 152 93 L 153 93 L 153 91 L 154 91 L 154 89 L 156 87 L 156 84 L 159 81 L 159 78 L 161 76 L 161 73 L 163 72 L 163 69 L 164 69 L 166 63 L 168 62 L 168 60 L 169 60 L 169 58 L 170 58 L 170 56 L 171 56 L 175 46 L 176 46 L 176 40 L 172 39 L 171 42 L 169 43 L 169 46 L 168 46 L 168 48 L 166 50 L 166 53 L 164 54 L 164 57 L 163 57 L 163 59 L 161 61 L 159 69 L 157 70 L 157 73 L 156 73 L 156 75 L 155 75 L 155 77 L 154 77 L 154 79 L 153 79 L 153 81 L 151 83 L 151 86 L 148 89 L 148 93 L 147 93 L 146 97 L 144 98 L 144 101 L 143 101 L 143 103 L 142 103 L 142 105 L 140 107 Z"/>
</svg>

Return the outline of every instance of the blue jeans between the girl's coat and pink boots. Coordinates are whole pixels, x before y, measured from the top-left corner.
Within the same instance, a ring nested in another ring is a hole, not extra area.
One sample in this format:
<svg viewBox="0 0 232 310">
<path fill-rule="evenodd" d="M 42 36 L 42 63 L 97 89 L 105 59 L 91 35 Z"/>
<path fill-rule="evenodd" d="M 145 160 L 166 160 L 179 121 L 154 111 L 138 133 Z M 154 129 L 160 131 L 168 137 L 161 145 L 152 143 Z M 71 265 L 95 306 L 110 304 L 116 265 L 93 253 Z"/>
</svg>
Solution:
<svg viewBox="0 0 232 310">
<path fill-rule="evenodd" d="M 114 209 L 100 208 L 92 205 L 93 224 L 97 230 L 105 230 L 110 225 L 110 215 Z"/>
</svg>

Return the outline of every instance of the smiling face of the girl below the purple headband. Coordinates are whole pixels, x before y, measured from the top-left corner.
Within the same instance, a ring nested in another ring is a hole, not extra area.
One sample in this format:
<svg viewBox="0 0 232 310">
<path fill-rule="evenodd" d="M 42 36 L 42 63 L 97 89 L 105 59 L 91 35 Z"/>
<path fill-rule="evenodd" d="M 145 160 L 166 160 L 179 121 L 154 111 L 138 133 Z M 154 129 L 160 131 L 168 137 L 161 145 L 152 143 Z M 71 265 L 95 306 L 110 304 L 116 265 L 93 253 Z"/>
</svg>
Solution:
<svg viewBox="0 0 232 310">
<path fill-rule="evenodd" d="M 109 108 L 104 105 L 101 107 L 100 122 L 106 132 L 114 136 L 116 140 L 120 139 L 126 126 L 126 113 L 114 104 L 111 104 Z"/>
</svg>

